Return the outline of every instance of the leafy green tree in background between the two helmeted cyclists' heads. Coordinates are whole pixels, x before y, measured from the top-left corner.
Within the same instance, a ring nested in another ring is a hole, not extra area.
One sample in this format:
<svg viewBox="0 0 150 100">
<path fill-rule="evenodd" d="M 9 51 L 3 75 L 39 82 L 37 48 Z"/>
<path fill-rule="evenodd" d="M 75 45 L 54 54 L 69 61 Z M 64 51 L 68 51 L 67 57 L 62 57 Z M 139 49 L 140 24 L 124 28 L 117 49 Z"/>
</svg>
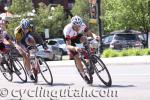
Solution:
<svg viewBox="0 0 150 100">
<path fill-rule="evenodd" d="M 40 3 L 33 22 L 36 25 L 37 32 L 44 32 L 44 29 L 48 28 L 50 35 L 57 37 L 63 35 L 62 30 L 67 20 L 65 20 L 63 6 L 57 5 L 54 8 L 51 5 L 46 6 Z"/>
</svg>

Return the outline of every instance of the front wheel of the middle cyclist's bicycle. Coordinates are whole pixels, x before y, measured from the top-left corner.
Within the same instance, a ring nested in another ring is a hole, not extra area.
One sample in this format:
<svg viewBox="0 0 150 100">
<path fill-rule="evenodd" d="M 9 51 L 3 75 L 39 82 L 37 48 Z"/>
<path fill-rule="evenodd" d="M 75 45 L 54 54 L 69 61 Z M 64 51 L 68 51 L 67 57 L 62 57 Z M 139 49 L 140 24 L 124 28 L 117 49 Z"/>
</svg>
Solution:
<svg viewBox="0 0 150 100">
<path fill-rule="evenodd" d="M 39 60 L 39 63 L 38 63 L 39 70 L 40 70 L 40 73 L 41 73 L 43 79 L 45 80 L 45 82 L 47 84 L 52 85 L 53 84 L 53 76 L 52 76 L 52 72 L 51 72 L 48 64 L 41 57 L 38 57 L 38 60 Z"/>
</svg>

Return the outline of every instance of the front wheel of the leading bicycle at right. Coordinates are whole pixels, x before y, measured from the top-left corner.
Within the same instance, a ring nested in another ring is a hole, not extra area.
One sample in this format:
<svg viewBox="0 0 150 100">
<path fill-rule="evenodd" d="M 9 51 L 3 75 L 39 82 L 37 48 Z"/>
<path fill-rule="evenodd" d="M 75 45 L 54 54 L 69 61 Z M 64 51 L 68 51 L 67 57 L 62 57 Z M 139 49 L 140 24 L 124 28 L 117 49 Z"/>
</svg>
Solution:
<svg viewBox="0 0 150 100">
<path fill-rule="evenodd" d="M 103 61 L 96 55 L 92 55 L 92 62 L 95 65 L 94 70 L 98 78 L 108 87 L 112 84 L 110 73 Z"/>
</svg>

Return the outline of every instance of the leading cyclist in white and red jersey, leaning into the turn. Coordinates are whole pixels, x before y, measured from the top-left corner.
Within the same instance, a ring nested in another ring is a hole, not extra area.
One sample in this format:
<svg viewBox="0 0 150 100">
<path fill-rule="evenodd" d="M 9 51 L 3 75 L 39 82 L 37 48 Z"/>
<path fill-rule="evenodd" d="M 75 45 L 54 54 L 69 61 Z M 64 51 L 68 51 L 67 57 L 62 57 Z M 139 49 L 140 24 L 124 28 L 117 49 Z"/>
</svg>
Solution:
<svg viewBox="0 0 150 100">
<path fill-rule="evenodd" d="M 63 34 L 66 40 L 67 49 L 69 50 L 70 59 L 75 60 L 84 80 L 87 82 L 87 84 L 91 84 L 88 77 L 84 73 L 83 65 L 78 55 L 78 52 L 80 52 L 81 49 L 75 47 L 75 43 L 80 43 L 81 38 L 84 36 L 92 37 L 95 39 L 99 39 L 99 36 L 96 36 L 94 33 L 92 33 L 85 25 L 85 23 L 83 23 L 82 18 L 77 15 L 72 17 L 71 22 L 65 26 Z"/>
</svg>

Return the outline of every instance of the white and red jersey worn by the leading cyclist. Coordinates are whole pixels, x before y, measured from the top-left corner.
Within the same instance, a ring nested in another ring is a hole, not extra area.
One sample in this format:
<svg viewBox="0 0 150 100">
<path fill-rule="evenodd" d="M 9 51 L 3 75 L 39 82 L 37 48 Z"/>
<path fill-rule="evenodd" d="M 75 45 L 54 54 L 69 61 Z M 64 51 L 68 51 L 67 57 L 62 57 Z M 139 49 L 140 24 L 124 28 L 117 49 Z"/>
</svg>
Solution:
<svg viewBox="0 0 150 100">
<path fill-rule="evenodd" d="M 87 31 L 87 26 L 84 23 L 81 25 L 79 32 L 74 31 L 72 28 L 72 24 L 69 23 L 65 26 L 63 30 L 63 34 L 66 40 L 72 40 L 77 38 L 78 34 L 86 31 Z"/>
</svg>

